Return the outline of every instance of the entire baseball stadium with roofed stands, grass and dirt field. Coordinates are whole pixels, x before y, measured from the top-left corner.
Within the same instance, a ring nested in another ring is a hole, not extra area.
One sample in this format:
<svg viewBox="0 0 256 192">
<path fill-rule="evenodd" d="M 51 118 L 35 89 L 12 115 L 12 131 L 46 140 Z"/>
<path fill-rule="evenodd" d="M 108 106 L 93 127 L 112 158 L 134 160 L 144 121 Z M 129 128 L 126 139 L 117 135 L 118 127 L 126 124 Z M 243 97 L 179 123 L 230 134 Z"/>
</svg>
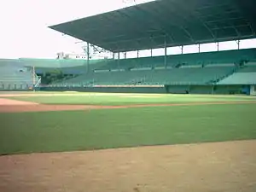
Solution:
<svg viewBox="0 0 256 192">
<path fill-rule="evenodd" d="M 141 3 L 49 26 L 85 59 L 0 59 L 0 191 L 255 192 L 255 7 Z"/>
</svg>

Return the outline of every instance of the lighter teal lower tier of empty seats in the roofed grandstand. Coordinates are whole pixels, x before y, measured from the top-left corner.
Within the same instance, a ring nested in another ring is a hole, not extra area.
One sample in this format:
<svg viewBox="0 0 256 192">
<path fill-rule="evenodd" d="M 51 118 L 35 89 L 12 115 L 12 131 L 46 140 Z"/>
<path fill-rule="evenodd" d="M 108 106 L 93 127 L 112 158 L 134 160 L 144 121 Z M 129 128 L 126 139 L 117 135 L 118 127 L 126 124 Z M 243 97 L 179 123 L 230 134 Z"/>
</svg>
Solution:
<svg viewBox="0 0 256 192">
<path fill-rule="evenodd" d="M 234 67 L 204 67 L 87 73 L 58 84 L 208 84 L 233 70 Z"/>
</svg>

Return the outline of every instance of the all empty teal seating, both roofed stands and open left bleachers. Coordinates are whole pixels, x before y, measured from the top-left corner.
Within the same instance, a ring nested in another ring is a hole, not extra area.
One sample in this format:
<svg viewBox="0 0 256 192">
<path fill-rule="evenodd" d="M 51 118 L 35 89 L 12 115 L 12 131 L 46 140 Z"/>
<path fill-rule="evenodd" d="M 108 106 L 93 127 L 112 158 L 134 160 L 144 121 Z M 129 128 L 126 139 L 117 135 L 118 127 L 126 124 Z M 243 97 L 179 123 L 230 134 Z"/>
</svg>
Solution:
<svg viewBox="0 0 256 192">
<path fill-rule="evenodd" d="M 124 60 L 0 60 L 0 89 L 32 84 L 32 66 L 43 74 L 55 69 L 68 78 L 58 86 L 89 84 L 236 84 L 254 82 L 256 49 L 240 49 L 200 54 L 168 55 Z M 239 67 L 236 64 L 245 64 Z M 241 79 L 247 79 L 242 81 Z M 4 84 L 3 84 L 4 82 Z M 11 85 L 6 85 L 11 84 Z M 14 85 L 15 84 L 15 85 Z"/>
</svg>

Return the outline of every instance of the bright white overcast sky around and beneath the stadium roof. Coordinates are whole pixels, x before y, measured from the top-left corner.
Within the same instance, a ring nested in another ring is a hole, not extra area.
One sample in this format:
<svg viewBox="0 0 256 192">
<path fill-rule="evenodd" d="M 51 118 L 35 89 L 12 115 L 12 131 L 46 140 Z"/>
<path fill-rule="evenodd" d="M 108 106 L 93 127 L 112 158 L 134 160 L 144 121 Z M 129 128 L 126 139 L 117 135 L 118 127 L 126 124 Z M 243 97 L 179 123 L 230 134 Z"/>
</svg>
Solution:
<svg viewBox="0 0 256 192">
<path fill-rule="evenodd" d="M 83 54 L 81 41 L 55 32 L 48 26 L 97 15 L 134 5 L 132 0 L 0 0 L 0 58 L 56 58 L 58 52 Z M 146 3 L 154 0 L 137 0 Z M 201 45 L 216 50 L 216 44 Z M 236 49 L 236 42 L 223 43 L 220 49 Z M 256 39 L 241 42 L 241 49 L 256 47 Z M 197 45 L 184 48 L 184 53 L 195 52 Z M 201 49 L 203 50 L 203 49 Z M 180 48 L 168 48 L 168 54 L 181 53 Z M 149 50 L 140 51 L 149 56 Z M 153 55 L 163 55 L 155 49 Z M 135 57 L 137 52 L 127 54 Z M 121 58 L 124 55 L 121 55 Z"/>
</svg>

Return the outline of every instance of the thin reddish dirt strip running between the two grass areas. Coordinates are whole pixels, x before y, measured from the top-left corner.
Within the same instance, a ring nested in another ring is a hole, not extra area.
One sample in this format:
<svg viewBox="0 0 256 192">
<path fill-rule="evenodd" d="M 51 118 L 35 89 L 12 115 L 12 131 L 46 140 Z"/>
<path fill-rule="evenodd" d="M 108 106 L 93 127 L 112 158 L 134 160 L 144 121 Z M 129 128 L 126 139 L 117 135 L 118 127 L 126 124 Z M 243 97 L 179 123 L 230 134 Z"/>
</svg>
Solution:
<svg viewBox="0 0 256 192">
<path fill-rule="evenodd" d="M 0 113 L 23 113 L 23 112 L 45 112 L 45 111 L 77 111 L 90 109 L 114 109 L 114 108 L 146 108 L 146 107 L 172 107 L 172 106 L 199 106 L 199 105 L 224 105 L 224 104 L 253 104 L 256 102 L 189 102 L 170 104 L 137 104 L 119 106 L 100 105 L 46 105 L 35 102 L 21 102 L 11 99 L 0 98 Z"/>
</svg>

